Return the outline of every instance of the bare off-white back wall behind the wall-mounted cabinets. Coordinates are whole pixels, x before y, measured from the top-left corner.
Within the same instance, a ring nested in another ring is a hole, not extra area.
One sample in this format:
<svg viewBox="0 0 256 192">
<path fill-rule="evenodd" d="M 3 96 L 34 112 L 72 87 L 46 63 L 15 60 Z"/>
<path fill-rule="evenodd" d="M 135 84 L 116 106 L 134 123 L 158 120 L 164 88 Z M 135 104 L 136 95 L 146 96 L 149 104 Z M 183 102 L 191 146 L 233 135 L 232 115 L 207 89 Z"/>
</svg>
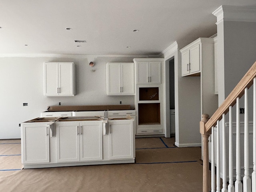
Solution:
<svg viewBox="0 0 256 192">
<path fill-rule="evenodd" d="M 0 57 L 0 139 L 20 138 L 21 122 L 40 117 L 47 106 L 58 105 L 124 105 L 134 106 L 134 96 L 106 95 L 106 62 L 133 62 L 138 56 L 53 55 Z M 95 72 L 89 62 L 94 61 Z M 76 64 L 76 96 L 43 95 L 43 63 Z M 23 106 L 28 103 L 28 106 Z"/>
</svg>

